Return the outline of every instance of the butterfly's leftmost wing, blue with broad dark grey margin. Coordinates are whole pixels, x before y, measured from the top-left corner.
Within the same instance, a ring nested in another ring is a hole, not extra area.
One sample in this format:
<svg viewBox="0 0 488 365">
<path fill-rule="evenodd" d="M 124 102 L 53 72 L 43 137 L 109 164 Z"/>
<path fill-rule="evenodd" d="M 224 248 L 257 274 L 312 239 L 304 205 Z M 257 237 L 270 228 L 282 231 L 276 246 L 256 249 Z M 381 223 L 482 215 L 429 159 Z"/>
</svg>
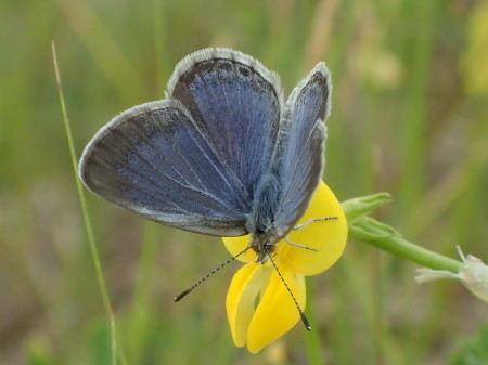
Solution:
<svg viewBox="0 0 488 365">
<path fill-rule="evenodd" d="M 79 174 L 93 193 L 151 220 L 211 235 L 246 233 L 249 197 L 179 103 L 152 102 L 115 117 L 85 149 Z"/>
</svg>

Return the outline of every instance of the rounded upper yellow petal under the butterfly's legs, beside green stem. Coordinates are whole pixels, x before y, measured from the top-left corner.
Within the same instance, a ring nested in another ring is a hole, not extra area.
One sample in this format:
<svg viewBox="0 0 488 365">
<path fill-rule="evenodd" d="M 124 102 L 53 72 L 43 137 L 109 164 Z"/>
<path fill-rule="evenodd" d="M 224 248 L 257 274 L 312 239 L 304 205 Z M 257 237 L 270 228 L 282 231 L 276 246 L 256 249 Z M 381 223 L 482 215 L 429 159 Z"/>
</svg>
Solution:
<svg viewBox="0 0 488 365">
<path fill-rule="evenodd" d="M 319 251 L 307 250 L 281 240 L 277 247 L 277 260 L 286 262 L 294 272 L 305 276 L 317 275 L 332 266 L 346 246 L 347 220 L 334 193 L 324 182 L 320 182 L 310 207 L 297 224 L 324 217 L 337 219 L 313 222 L 301 230 L 288 233 L 291 242 Z"/>
</svg>

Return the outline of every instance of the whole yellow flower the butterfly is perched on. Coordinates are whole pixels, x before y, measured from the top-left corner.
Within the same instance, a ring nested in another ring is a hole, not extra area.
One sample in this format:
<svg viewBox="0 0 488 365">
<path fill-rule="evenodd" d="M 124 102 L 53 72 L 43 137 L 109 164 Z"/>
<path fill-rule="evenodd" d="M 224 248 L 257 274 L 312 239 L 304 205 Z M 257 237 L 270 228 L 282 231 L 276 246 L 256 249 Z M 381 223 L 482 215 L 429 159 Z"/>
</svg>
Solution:
<svg viewBox="0 0 488 365">
<path fill-rule="evenodd" d="M 318 251 L 293 246 L 284 240 L 277 244 L 272 258 L 301 310 L 305 310 L 305 276 L 317 275 L 332 266 L 344 251 L 347 221 L 334 194 L 320 182 L 310 207 L 298 224 L 310 219 L 337 217 L 313 222 L 288 233 L 291 242 Z M 223 238 L 231 255 L 249 245 L 249 236 Z M 246 263 L 232 278 L 227 295 L 227 316 L 236 347 L 252 353 L 283 336 L 299 321 L 299 312 L 270 260 L 256 263 L 257 255 L 247 250 L 237 260 Z M 259 303 L 256 307 L 256 299 Z"/>
</svg>

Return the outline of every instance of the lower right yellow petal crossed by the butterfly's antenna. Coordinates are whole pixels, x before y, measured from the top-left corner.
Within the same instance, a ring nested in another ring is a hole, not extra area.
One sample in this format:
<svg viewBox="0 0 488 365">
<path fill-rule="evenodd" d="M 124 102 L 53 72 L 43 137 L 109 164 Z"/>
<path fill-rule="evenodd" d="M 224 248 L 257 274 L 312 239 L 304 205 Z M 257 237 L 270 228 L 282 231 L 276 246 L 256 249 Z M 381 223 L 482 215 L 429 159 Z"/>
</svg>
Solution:
<svg viewBox="0 0 488 365">
<path fill-rule="evenodd" d="M 292 290 L 301 310 L 305 310 L 305 278 L 295 274 L 290 266 L 278 264 L 278 268 Z M 300 316 L 286 287 L 273 268 L 269 284 L 261 297 L 247 330 L 247 349 L 252 353 L 286 334 L 295 326 Z"/>
</svg>

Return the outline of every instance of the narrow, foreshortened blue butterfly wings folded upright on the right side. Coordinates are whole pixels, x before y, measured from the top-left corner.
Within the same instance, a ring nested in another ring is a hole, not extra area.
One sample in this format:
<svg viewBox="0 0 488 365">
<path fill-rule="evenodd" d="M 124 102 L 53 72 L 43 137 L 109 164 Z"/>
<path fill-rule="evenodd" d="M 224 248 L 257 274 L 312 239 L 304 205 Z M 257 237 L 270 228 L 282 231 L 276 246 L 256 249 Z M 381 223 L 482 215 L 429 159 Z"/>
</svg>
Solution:
<svg viewBox="0 0 488 365">
<path fill-rule="evenodd" d="M 319 63 L 286 102 L 273 158 L 280 186 L 273 225 L 281 235 L 305 213 L 322 178 L 331 91 L 329 69 Z"/>
</svg>

